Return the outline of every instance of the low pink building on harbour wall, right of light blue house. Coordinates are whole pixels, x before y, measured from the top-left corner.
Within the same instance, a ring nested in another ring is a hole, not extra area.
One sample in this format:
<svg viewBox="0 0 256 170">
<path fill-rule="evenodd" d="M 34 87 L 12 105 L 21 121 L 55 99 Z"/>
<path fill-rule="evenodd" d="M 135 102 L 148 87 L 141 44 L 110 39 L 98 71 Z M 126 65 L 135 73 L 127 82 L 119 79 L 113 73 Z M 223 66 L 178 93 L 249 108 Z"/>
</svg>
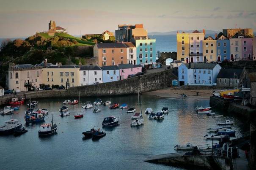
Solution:
<svg viewBox="0 0 256 170">
<path fill-rule="evenodd" d="M 132 65 L 132 64 L 120 64 L 119 67 L 119 73 L 120 73 L 120 80 L 128 78 L 131 74 L 137 74 L 141 72 L 142 67 L 141 65 Z"/>
</svg>

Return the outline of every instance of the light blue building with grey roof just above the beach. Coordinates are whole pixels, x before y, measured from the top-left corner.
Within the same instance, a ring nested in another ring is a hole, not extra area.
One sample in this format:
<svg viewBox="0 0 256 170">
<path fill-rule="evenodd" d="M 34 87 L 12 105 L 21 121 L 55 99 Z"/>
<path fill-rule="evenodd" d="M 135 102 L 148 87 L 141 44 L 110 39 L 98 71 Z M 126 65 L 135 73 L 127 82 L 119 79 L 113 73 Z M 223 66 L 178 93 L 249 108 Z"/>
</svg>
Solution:
<svg viewBox="0 0 256 170">
<path fill-rule="evenodd" d="M 220 65 L 214 63 L 182 63 L 178 67 L 179 86 L 216 85 Z"/>
</svg>

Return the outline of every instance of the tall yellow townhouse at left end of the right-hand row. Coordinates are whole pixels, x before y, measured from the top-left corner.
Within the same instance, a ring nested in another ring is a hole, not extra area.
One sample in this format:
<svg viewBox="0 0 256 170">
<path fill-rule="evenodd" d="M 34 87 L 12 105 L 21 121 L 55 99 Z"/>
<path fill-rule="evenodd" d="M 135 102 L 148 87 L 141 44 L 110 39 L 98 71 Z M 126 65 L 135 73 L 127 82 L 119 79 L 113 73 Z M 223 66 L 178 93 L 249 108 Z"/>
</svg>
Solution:
<svg viewBox="0 0 256 170">
<path fill-rule="evenodd" d="M 189 59 L 189 33 L 177 32 L 177 60 Z"/>
</svg>

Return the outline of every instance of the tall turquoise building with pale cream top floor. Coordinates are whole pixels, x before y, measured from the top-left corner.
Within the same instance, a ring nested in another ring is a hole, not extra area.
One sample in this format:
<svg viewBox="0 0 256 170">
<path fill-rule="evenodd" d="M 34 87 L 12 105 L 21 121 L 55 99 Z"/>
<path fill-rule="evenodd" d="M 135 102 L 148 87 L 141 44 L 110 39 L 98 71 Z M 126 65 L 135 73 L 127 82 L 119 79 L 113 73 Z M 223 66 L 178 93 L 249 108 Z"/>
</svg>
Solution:
<svg viewBox="0 0 256 170">
<path fill-rule="evenodd" d="M 134 37 L 137 64 L 156 64 L 156 40 L 148 37 Z"/>
</svg>

